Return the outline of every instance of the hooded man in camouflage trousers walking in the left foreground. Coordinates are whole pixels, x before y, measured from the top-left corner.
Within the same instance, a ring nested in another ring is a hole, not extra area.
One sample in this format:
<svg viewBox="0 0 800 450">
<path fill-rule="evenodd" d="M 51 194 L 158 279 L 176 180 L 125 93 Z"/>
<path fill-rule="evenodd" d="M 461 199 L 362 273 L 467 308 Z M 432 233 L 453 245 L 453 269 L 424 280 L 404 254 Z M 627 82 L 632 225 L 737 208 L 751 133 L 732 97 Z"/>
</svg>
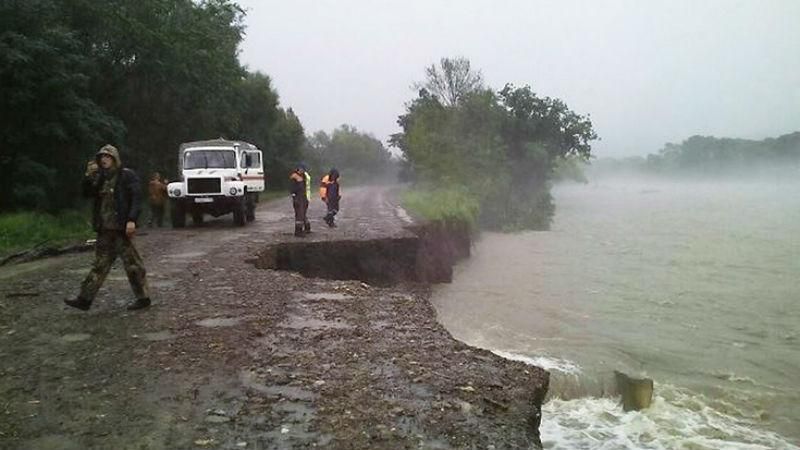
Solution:
<svg viewBox="0 0 800 450">
<path fill-rule="evenodd" d="M 94 263 L 81 283 L 78 297 L 64 300 L 64 303 L 88 310 L 111 265 L 119 256 L 136 295 L 136 301 L 128 304 L 128 310 L 147 308 L 150 306 L 150 296 L 146 272 L 142 258 L 133 245 L 141 200 L 139 177 L 134 171 L 122 167 L 115 147 L 105 145 L 97 152 L 94 161 L 89 161 L 86 166 L 83 194 L 94 200 L 92 226 L 97 232 Z"/>
</svg>

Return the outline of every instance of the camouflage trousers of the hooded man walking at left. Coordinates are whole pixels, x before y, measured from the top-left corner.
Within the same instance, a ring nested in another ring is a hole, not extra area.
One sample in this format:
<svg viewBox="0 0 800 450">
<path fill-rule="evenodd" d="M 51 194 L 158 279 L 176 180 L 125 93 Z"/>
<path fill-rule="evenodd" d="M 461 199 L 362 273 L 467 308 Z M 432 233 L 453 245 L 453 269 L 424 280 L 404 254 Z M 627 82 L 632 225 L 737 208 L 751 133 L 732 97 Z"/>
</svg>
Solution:
<svg viewBox="0 0 800 450">
<path fill-rule="evenodd" d="M 94 300 L 117 257 L 122 260 L 125 273 L 128 275 L 128 282 L 131 284 L 136 298 L 150 298 L 142 257 L 139 256 L 133 242 L 125 236 L 125 232 L 116 230 L 104 230 L 97 233 L 92 270 L 81 283 L 80 298 L 90 302 Z"/>
</svg>

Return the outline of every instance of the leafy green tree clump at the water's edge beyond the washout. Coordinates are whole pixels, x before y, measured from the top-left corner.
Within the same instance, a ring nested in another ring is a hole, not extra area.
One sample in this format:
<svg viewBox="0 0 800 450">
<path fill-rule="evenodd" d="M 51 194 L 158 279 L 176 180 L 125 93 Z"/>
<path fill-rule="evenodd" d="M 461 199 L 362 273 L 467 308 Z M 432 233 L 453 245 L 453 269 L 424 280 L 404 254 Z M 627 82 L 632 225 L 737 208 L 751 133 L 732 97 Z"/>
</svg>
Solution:
<svg viewBox="0 0 800 450">
<path fill-rule="evenodd" d="M 391 138 L 418 185 L 412 203 L 451 207 L 454 217 L 477 210 L 490 229 L 547 228 L 554 169 L 588 159 L 597 139 L 589 117 L 528 86 L 486 87 L 464 58 L 444 58 L 425 75 Z"/>
</svg>

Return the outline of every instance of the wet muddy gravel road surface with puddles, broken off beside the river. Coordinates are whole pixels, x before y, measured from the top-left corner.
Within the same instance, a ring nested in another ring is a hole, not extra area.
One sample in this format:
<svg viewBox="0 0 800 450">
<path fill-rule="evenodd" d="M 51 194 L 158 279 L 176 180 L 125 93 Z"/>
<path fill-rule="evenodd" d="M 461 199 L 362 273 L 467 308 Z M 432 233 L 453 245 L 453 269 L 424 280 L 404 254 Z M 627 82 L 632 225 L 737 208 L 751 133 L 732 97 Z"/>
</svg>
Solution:
<svg viewBox="0 0 800 450">
<path fill-rule="evenodd" d="M 384 189 L 349 190 L 304 242 L 407 238 Z M 535 448 L 547 373 L 454 340 L 429 287 L 263 270 L 288 201 L 257 221 L 145 229 L 154 306 L 121 267 L 68 309 L 90 254 L 0 270 L 0 448 Z"/>
</svg>

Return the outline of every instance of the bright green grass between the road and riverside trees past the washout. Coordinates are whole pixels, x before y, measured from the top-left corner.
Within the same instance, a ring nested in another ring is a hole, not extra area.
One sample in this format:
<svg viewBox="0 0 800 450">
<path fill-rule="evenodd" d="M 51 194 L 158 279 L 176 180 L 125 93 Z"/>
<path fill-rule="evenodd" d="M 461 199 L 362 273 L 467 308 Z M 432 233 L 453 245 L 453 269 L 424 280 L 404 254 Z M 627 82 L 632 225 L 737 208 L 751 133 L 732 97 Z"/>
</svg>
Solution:
<svg viewBox="0 0 800 450">
<path fill-rule="evenodd" d="M 463 223 L 471 229 L 476 227 L 480 213 L 478 200 L 459 187 L 430 190 L 417 187 L 404 192 L 400 200 L 405 209 L 425 220 Z"/>
</svg>

